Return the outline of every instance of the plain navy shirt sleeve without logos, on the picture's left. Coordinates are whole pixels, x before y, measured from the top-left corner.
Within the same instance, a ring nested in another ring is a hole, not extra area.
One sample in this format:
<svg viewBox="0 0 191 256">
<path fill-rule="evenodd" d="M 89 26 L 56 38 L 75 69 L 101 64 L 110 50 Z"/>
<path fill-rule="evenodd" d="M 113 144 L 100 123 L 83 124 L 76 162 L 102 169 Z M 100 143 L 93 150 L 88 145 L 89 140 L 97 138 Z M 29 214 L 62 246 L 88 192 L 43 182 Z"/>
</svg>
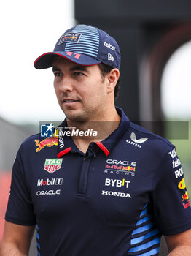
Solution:
<svg viewBox="0 0 191 256">
<path fill-rule="evenodd" d="M 26 185 L 26 172 L 22 161 L 22 146 L 12 168 L 12 182 L 5 219 L 18 225 L 35 225 L 36 217 Z"/>
</svg>

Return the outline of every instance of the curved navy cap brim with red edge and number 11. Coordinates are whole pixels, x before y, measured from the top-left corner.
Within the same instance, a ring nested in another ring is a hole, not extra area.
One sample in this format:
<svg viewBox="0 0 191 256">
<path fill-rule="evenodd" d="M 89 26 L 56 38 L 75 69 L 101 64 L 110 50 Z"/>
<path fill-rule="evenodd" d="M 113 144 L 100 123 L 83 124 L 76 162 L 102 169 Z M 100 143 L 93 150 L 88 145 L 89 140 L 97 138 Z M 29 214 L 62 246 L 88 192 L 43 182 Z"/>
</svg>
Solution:
<svg viewBox="0 0 191 256">
<path fill-rule="evenodd" d="M 85 54 L 58 51 L 42 54 L 39 56 L 39 58 L 36 59 L 36 61 L 34 61 L 34 67 L 36 69 L 47 69 L 48 67 L 52 67 L 52 62 L 53 59 L 55 59 L 55 56 L 61 56 L 65 59 L 69 59 L 69 61 L 83 66 L 90 66 L 101 63 L 101 61 L 98 61 L 97 59 L 94 59 L 93 57 L 87 56 Z"/>
</svg>

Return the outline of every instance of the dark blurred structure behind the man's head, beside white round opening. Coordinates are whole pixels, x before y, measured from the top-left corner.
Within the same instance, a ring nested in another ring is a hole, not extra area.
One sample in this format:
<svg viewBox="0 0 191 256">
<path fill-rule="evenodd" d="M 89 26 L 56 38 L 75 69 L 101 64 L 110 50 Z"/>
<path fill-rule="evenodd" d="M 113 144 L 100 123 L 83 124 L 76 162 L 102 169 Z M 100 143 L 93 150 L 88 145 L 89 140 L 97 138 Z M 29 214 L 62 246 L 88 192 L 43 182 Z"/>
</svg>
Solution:
<svg viewBox="0 0 191 256">
<path fill-rule="evenodd" d="M 161 77 L 171 54 L 191 39 L 191 1 L 75 0 L 77 23 L 107 31 L 122 53 L 116 104 L 131 121 L 164 135 Z"/>
</svg>

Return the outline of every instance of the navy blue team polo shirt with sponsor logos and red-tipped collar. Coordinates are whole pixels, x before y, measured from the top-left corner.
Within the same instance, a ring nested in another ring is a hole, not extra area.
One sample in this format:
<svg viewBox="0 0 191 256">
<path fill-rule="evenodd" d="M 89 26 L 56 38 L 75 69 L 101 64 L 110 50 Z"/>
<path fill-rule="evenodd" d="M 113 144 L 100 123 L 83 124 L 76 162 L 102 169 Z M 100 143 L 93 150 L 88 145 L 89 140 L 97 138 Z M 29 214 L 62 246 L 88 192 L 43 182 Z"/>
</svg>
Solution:
<svg viewBox="0 0 191 256">
<path fill-rule="evenodd" d="M 174 146 L 117 111 L 119 127 L 86 154 L 68 136 L 20 146 L 5 219 L 37 225 L 38 255 L 158 255 L 162 234 L 191 228 Z"/>
</svg>

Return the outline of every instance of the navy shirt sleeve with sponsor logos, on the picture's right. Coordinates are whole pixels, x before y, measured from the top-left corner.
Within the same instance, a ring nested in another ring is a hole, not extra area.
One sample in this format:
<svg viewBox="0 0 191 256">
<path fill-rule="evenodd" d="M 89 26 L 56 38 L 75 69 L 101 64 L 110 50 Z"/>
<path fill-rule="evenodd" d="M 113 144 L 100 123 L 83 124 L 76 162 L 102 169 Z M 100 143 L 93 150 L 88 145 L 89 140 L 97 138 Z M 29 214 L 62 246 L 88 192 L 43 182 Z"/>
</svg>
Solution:
<svg viewBox="0 0 191 256">
<path fill-rule="evenodd" d="M 190 229 L 190 200 L 175 148 L 165 154 L 154 177 L 152 203 L 160 232 L 169 236 Z"/>
</svg>

